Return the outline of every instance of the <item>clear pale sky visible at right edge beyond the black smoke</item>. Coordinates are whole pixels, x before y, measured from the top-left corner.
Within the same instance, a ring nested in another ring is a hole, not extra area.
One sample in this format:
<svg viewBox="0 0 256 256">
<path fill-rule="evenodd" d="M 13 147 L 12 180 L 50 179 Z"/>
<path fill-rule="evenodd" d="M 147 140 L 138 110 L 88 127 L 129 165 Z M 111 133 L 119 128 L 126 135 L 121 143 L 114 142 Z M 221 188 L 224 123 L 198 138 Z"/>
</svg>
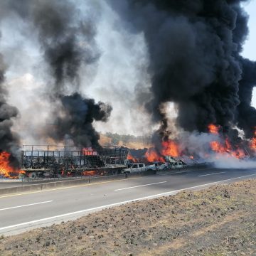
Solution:
<svg viewBox="0 0 256 256">
<path fill-rule="evenodd" d="M 249 14 L 249 35 L 243 47 L 242 55 L 245 58 L 256 61 L 256 0 L 247 2 L 244 8 L 247 14 Z M 256 107 L 256 87 L 252 95 L 252 106 Z"/>
</svg>

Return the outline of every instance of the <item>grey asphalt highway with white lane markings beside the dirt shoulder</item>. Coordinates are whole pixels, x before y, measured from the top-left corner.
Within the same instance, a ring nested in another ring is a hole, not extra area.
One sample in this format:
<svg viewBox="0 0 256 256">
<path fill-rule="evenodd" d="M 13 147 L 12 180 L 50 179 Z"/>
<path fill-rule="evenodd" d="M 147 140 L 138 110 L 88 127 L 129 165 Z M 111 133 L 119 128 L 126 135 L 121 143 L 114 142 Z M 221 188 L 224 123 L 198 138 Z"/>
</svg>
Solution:
<svg viewBox="0 0 256 256">
<path fill-rule="evenodd" d="M 256 178 L 256 169 L 203 169 L 0 195 L 0 235 L 74 220 L 102 208 Z"/>
</svg>

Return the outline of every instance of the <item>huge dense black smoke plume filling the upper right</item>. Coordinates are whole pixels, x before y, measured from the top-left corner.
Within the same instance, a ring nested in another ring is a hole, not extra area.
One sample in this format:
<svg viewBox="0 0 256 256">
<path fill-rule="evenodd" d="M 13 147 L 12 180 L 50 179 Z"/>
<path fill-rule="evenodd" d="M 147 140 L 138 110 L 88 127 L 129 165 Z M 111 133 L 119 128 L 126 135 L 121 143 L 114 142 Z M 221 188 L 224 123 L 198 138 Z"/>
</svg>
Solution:
<svg viewBox="0 0 256 256">
<path fill-rule="evenodd" d="M 153 94 L 146 107 L 161 122 L 162 139 L 169 135 L 166 102 L 176 103 L 178 127 L 188 132 L 207 132 L 210 123 L 230 132 L 238 124 L 252 136 L 255 64 L 238 55 L 247 36 L 240 2 L 110 0 L 129 30 L 144 32 Z"/>
</svg>

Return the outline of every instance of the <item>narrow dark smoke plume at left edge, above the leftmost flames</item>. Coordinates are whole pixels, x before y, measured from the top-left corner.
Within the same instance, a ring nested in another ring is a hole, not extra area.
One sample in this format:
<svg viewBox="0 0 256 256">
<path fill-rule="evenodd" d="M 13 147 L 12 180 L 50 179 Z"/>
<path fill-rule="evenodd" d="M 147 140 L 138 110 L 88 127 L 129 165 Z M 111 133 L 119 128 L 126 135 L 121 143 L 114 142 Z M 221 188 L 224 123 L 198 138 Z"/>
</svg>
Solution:
<svg viewBox="0 0 256 256">
<path fill-rule="evenodd" d="M 18 135 L 11 131 L 11 127 L 13 125 L 12 118 L 17 117 L 18 110 L 6 102 L 7 92 L 3 84 L 5 70 L 3 56 L 0 54 L 0 152 L 11 153 L 11 164 L 16 167 L 18 165 L 19 139 Z"/>
</svg>

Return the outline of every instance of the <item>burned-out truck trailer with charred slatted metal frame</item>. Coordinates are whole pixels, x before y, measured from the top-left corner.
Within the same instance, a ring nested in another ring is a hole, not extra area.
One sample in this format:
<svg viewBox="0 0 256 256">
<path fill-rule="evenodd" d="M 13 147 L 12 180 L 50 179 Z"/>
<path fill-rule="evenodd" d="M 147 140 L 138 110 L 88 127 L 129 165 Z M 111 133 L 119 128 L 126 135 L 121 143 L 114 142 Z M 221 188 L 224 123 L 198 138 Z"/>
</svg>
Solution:
<svg viewBox="0 0 256 256">
<path fill-rule="evenodd" d="M 26 174 L 45 176 L 119 174 L 127 164 L 128 149 L 101 146 L 97 149 L 78 146 L 23 145 L 21 169 Z"/>
</svg>

